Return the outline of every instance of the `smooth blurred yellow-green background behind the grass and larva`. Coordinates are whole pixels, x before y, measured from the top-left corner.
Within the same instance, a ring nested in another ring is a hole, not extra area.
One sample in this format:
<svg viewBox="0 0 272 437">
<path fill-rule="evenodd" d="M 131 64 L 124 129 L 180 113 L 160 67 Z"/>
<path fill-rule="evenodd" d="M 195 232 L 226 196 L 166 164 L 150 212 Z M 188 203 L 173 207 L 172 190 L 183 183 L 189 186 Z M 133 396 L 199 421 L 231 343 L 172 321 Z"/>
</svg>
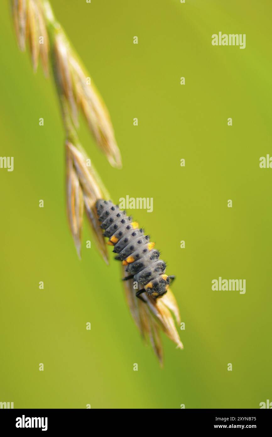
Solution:
<svg viewBox="0 0 272 437">
<path fill-rule="evenodd" d="M 131 318 L 119 264 L 110 256 L 106 266 L 93 243 L 77 258 L 55 89 L 41 66 L 33 74 L 29 52 L 19 52 L 4 1 L 0 155 L 14 156 L 14 171 L 0 169 L 0 401 L 259 408 L 272 401 L 272 170 L 259 168 L 260 156 L 272 154 L 271 2 L 51 3 L 109 108 L 123 169 L 110 167 L 82 123 L 84 148 L 115 202 L 154 198 L 153 213 L 134 218 L 177 276 L 185 349 L 163 336 L 161 369 Z M 246 34 L 246 48 L 213 47 L 219 31 Z M 246 293 L 211 291 L 219 276 L 246 279 Z"/>
</svg>

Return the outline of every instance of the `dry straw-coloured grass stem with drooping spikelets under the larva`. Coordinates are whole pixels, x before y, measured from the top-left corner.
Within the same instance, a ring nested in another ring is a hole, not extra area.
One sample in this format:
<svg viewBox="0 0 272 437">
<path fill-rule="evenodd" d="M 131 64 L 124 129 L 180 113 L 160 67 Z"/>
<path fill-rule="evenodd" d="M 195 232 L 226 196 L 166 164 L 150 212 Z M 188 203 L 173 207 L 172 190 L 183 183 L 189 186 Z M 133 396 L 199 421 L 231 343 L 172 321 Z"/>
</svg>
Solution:
<svg viewBox="0 0 272 437">
<path fill-rule="evenodd" d="M 96 144 L 110 164 L 121 167 L 121 154 L 109 113 L 67 36 L 55 20 L 49 1 L 11 0 L 11 4 L 19 48 L 25 50 L 26 42 L 29 41 L 34 71 L 38 68 L 39 58 L 45 74 L 48 73 L 49 63 L 52 66 L 66 132 L 67 215 L 76 251 L 80 257 L 85 209 L 97 248 L 108 263 L 108 251 L 96 213 L 96 201 L 100 198 L 109 199 L 109 194 L 93 165 L 87 164 L 89 160 L 78 138 L 78 115 L 82 111 Z M 127 275 L 125 267 L 122 267 L 122 272 Z M 176 323 L 180 324 L 176 299 L 168 289 L 164 296 L 156 300 L 144 293 L 142 298 L 145 302 L 142 302 L 136 297 L 133 280 L 124 281 L 124 286 L 133 319 L 143 338 L 149 338 L 162 364 L 161 330 L 177 347 L 183 348 L 174 320 L 175 317 Z"/>
</svg>

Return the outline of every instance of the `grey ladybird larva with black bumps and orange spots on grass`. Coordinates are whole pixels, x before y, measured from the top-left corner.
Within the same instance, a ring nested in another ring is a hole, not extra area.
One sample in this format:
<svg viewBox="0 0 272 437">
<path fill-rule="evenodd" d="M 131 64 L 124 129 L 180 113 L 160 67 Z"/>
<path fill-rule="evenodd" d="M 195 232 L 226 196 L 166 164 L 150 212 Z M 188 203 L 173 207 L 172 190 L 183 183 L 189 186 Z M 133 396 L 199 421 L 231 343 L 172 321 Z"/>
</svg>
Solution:
<svg viewBox="0 0 272 437">
<path fill-rule="evenodd" d="M 164 295 L 172 277 L 165 274 L 166 264 L 159 259 L 158 250 L 153 249 L 155 243 L 150 243 L 138 223 L 111 201 L 98 200 L 96 211 L 101 228 L 105 229 L 103 235 L 109 238 L 108 244 L 114 246 L 117 253 L 115 258 L 122 261 L 130 273 L 125 279 L 134 278 L 144 287 L 136 293 L 137 297 L 145 291 L 154 298 Z"/>
</svg>

